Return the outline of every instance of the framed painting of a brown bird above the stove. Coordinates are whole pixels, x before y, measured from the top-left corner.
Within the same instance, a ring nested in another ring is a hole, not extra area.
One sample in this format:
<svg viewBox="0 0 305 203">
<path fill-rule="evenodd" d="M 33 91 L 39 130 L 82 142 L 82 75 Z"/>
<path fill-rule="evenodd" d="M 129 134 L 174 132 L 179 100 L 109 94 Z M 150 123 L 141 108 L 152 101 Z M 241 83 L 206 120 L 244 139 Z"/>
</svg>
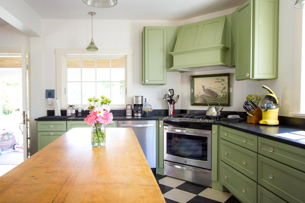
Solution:
<svg viewBox="0 0 305 203">
<path fill-rule="evenodd" d="M 193 75 L 191 76 L 191 105 L 208 106 L 208 102 L 215 101 L 221 106 L 230 106 L 229 89 L 230 73 Z"/>
</svg>

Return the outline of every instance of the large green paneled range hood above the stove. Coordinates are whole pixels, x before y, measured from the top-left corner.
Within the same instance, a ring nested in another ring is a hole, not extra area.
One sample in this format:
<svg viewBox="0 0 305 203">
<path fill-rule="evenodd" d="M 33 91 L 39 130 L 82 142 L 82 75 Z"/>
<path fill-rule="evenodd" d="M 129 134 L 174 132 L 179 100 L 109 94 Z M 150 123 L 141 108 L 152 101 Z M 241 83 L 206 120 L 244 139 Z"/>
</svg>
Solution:
<svg viewBox="0 0 305 203">
<path fill-rule="evenodd" d="M 173 52 L 174 66 L 182 72 L 234 68 L 231 65 L 231 15 L 180 27 Z"/>
</svg>

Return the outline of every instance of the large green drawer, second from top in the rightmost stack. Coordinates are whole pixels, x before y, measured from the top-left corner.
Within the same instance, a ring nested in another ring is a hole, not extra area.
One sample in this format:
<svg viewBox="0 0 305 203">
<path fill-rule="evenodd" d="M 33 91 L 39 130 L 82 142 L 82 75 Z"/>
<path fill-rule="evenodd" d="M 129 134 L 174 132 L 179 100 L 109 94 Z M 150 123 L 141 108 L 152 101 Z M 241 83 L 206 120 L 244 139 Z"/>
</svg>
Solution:
<svg viewBox="0 0 305 203">
<path fill-rule="evenodd" d="M 305 202 L 305 173 L 258 155 L 258 183 L 288 202 Z"/>
</svg>

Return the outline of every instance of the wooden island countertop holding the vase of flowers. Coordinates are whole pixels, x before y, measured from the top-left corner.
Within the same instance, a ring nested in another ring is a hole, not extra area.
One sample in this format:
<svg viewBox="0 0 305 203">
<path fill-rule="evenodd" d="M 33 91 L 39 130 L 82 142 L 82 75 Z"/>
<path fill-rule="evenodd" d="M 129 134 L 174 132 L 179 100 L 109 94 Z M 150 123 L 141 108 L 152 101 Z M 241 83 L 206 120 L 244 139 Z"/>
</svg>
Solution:
<svg viewBox="0 0 305 203">
<path fill-rule="evenodd" d="M 0 177 L 0 202 L 165 202 L 131 128 L 73 128 Z"/>
</svg>

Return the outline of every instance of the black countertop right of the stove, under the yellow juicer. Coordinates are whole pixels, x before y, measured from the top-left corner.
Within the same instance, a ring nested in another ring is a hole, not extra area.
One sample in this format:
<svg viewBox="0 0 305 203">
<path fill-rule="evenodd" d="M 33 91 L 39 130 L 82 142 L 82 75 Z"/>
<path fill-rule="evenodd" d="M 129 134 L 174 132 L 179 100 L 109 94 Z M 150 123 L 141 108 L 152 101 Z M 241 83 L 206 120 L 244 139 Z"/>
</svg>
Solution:
<svg viewBox="0 0 305 203">
<path fill-rule="evenodd" d="M 229 122 L 221 120 L 214 121 L 213 124 L 222 125 L 235 130 L 257 135 L 259 137 L 305 149 L 305 129 L 302 128 L 295 128 L 285 125 L 267 126 L 251 124 L 247 123 L 247 121 Z"/>
</svg>

